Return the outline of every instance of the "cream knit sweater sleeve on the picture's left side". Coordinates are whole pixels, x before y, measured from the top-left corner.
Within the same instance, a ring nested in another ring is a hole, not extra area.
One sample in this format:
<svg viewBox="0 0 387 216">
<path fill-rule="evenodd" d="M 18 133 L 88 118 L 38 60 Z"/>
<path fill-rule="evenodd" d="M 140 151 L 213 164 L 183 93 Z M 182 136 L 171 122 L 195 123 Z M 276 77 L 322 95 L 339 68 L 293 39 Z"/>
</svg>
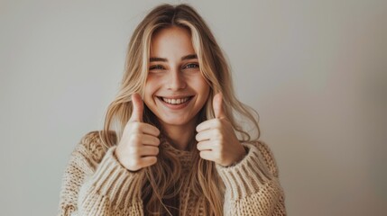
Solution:
<svg viewBox="0 0 387 216">
<path fill-rule="evenodd" d="M 130 172 L 97 132 L 74 149 L 62 179 L 58 215 L 143 215 L 143 172 Z"/>
</svg>

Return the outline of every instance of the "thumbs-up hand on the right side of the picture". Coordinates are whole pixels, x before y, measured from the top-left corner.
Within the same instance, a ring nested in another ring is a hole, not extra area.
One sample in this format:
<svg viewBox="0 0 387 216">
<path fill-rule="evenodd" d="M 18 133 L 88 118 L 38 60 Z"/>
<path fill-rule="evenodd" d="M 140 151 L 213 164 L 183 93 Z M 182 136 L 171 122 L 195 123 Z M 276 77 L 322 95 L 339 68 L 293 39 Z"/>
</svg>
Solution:
<svg viewBox="0 0 387 216">
<path fill-rule="evenodd" d="M 197 148 L 203 159 L 230 166 L 244 158 L 246 151 L 236 138 L 233 125 L 227 121 L 222 103 L 222 94 L 216 94 L 212 103 L 215 119 L 203 121 L 196 128 Z"/>
</svg>

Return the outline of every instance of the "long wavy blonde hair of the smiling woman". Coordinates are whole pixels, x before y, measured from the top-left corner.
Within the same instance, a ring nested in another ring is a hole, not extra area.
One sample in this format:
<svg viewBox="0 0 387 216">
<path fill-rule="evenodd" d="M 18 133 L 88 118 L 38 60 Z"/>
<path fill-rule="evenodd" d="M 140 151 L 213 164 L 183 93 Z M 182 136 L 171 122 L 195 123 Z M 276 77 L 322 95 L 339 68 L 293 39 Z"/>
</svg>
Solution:
<svg viewBox="0 0 387 216">
<path fill-rule="evenodd" d="M 220 92 L 223 94 L 225 114 L 234 126 L 240 141 L 251 141 L 253 138 L 240 122 L 235 120 L 235 115 L 238 115 L 238 119 L 244 117 L 253 123 L 253 129 L 257 132 L 254 139 L 259 139 L 258 114 L 236 99 L 230 68 L 207 24 L 188 4 L 161 4 L 139 23 L 130 40 L 121 88 L 115 100 L 108 106 L 104 130 L 101 133 L 106 147 L 119 143 L 123 135 L 124 126 L 130 119 L 133 110 L 131 95 L 134 93 L 143 95 L 153 33 L 171 26 L 178 26 L 190 31 L 200 71 L 210 86 L 207 103 L 198 113 L 198 123 L 215 117 L 212 98 Z M 143 120 L 160 128 L 157 118 L 147 109 L 146 105 L 144 106 Z M 115 131 L 116 139 L 112 139 L 112 130 Z M 189 174 L 191 190 L 189 194 L 195 195 L 199 202 L 204 204 L 203 211 L 206 215 L 222 215 L 225 188 L 217 175 L 215 163 L 199 157 L 196 148 L 191 147 L 190 149 L 193 154 L 193 166 Z M 182 186 L 182 182 L 179 180 L 181 173 L 179 158 L 167 150 L 161 150 L 157 157 L 158 162 L 155 165 L 144 168 L 146 175 L 142 191 L 144 212 L 153 215 L 179 212 L 178 197 Z M 187 212 L 180 212 L 180 214 L 184 215 Z"/>
</svg>

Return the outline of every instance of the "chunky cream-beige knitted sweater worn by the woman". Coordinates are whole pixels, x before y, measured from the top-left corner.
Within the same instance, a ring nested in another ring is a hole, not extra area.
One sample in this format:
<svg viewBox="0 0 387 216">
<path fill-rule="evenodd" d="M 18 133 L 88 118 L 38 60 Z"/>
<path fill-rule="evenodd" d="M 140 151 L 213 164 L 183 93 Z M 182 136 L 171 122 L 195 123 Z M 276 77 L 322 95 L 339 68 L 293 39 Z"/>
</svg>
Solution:
<svg viewBox="0 0 387 216">
<path fill-rule="evenodd" d="M 73 150 L 62 179 L 58 215 L 143 215 L 144 173 L 130 172 L 106 149 L 97 131 L 88 133 Z M 243 143 L 247 155 L 234 166 L 217 165 L 223 180 L 224 215 L 286 215 L 284 193 L 270 148 L 261 141 Z M 180 158 L 182 177 L 189 172 L 190 152 L 161 143 Z M 186 173 L 185 173 L 186 172 Z M 203 200 L 191 199 L 188 184 L 180 191 L 180 211 L 205 215 Z"/>
</svg>

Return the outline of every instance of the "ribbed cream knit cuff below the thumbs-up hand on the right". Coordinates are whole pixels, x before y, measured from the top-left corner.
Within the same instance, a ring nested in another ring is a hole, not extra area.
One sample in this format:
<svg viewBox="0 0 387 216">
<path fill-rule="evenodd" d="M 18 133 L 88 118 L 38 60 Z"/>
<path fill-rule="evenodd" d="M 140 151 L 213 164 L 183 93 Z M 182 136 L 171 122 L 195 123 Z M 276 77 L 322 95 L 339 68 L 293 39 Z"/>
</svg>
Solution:
<svg viewBox="0 0 387 216">
<path fill-rule="evenodd" d="M 263 162 L 258 148 L 253 144 L 243 143 L 247 155 L 234 166 L 217 165 L 217 173 L 226 186 L 226 193 L 236 200 L 259 191 L 272 174 Z"/>
</svg>

